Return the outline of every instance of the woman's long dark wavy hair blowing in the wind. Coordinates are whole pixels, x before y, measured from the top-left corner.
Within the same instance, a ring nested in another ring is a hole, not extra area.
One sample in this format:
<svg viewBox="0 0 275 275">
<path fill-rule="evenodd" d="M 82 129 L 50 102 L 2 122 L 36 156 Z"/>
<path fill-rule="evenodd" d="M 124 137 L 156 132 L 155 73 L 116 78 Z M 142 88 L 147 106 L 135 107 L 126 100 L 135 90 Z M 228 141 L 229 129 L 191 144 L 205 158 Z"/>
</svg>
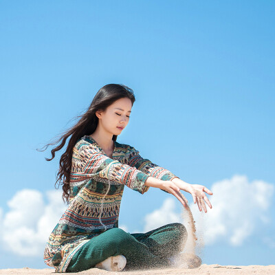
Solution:
<svg viewBox="0 0 275 275">
<path fill-rule="evenodd" d="M 120 98 L 129 98 L 132 102 L 135 102 L 135 96 L 133 94 L 133 90 L 122 84 L 108 84 L 99 89 L 94 96 L 91 105 L 88 107 L 87 111 L 83 115 L 77 115 L 75 119 L 80 118 L 78 122 L 72 126 L 67 131 L 61 133 L 59 138 L 49 144 L 46 144 L 43 147 L 46 147 L 44 150 L 36 149 L 37 151 L 45 151 L 48 146 L 59 144 L 55 148 L 51 150 L 52 158 L 48 159 L 45 157 L 47 161 L 54 159 L 55 152 L 61 150 L 66 143 L 66 140 L 69 138 L 69 142 L 67 145 L 67 149 L 63 155 L 61 155 L 61 159 L 59 162 L 59 170 L 56 175 L 56 183 L 62 183 L 63 189 L 63 201 L 67 201 L 69 203 L 69 177 L 72 168 L 72 155 L 73 148 L 78 139 L 83 137 L 84 135 L 91 135 L 96 131 L 96 127 L 98 126 L 98 117 L 96 116 L 96 111 L 102 110 L 105 111 L 109 105 L 113 104 L 115 100 Z M 71 136 L 71 137 L 70 137 Z M 116 141 L 117 135 L 113 135 L 113 140 Z M 56 186 L 56 183 L 54 186 Z M 58 187 L 59 187 L 58 185 Z"/>
</svg>

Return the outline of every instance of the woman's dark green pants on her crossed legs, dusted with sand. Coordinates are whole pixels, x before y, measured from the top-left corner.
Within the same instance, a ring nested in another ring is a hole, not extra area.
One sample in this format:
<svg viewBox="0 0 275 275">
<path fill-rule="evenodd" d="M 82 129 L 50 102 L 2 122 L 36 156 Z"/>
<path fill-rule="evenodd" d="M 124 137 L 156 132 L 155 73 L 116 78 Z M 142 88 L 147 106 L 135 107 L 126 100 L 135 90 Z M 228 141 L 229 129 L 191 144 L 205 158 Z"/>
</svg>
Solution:
<svg viewBox="0 0 275 275">
<path fill-rule="evenodd" d="M 168 258 L 184 249 L 186 228 L 169 223 L 146 233 L 127 233 L 111 228 L 85 243 L 70 261 L 66 272 L 89 270 L 109 256 L 126 257 L 124 270 L 167 267 Z"/>
</svg>

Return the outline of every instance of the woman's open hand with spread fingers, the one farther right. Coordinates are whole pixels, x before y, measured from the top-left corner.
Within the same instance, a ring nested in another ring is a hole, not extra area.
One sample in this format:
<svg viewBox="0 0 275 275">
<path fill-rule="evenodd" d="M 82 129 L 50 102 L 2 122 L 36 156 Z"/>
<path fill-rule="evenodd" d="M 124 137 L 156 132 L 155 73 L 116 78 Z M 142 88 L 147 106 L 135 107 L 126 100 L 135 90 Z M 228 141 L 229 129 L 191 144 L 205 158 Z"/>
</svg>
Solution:
<svg viewBox="0 0 275 275">
<path fill-rule="evenodd" d="M 199 207 L 199 211 L 202 211 L 203 208 L 204 212 L 207 212 L 206 203 L 210 209 L 212 208 L 212 205 L 204 192 L 206 192 L 208 195 L 213 195 L 213 193 L 208 188 L 206 188 L 206 186 L 200 184 L 188 184 L 179 178 L 175 178 L 172 181 L 181 190 L 189 192 L 192 195 L 194 203 L 197 203 L 197 206 Z M 206 201 L 206 203 L 204 203 L 204 201 Z"/>
</svg>

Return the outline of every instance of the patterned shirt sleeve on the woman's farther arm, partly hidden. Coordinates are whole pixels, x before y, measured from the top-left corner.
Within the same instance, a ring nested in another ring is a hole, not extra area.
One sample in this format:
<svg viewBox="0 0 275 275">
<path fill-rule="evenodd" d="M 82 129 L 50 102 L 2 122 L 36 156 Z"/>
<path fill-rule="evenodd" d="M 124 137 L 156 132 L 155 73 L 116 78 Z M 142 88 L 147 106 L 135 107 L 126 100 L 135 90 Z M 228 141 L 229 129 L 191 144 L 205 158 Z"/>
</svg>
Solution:
<svg viewBox="0 0 275 275">
<path fill-rule="evenodd" d="M 163 181 L 171 181 L 172 179 L 179 178 L 166 168 L 154 164 L 149 159 L 142 158 L 140 152 L 132 146 L 129 146 L 128 164 L 150 177 L 155 177 L 156 179 L 161 179 Z M 163 191 L 166 192 L 165 190 Z"/>
</svg>

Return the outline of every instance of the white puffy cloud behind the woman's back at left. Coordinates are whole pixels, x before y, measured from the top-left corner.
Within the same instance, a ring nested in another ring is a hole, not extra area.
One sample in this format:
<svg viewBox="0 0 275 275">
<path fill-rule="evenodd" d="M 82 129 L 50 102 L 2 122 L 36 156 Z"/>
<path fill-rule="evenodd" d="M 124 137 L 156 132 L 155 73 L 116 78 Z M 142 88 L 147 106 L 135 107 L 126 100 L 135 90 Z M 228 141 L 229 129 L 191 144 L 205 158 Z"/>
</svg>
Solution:
<svg viewBox="0 0 275 275">
<path fill-rule="evenodd" d="M 21 256 L 41 256 L 45 243 L 66 209 L 61 190 L 46 192 L 48 203 L 38 190 L 23 189 L 17 192 L 3 216 L 3 247 Z M 1 218 L 1 211 L 0 211 Z"/>
</svg>

